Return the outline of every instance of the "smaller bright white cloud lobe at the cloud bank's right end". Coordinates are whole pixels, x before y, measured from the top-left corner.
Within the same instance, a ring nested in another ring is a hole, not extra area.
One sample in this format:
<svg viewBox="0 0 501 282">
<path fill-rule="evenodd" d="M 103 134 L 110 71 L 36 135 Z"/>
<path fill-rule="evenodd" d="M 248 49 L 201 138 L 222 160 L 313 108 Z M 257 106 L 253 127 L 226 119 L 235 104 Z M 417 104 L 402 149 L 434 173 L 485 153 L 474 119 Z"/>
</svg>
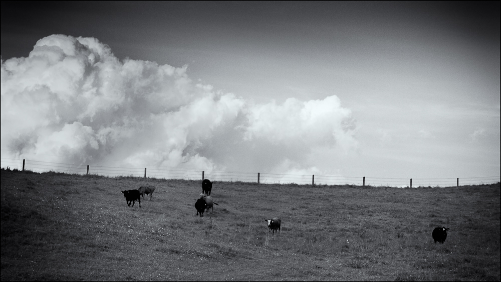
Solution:
<svg viewBox="0 0 501 282">
<path fill-rule="evenodd" d="M 337 143 L 347 149 L 357 145 L 351 110 L 343 108 L 335 95 L 306 102 L 288 98 L 283 105 L 272 101 L 251 107 L 247 117 L 249 126 L 245 138 L 248 140 L 264 138 L 274 144 Z"/>
</svg>

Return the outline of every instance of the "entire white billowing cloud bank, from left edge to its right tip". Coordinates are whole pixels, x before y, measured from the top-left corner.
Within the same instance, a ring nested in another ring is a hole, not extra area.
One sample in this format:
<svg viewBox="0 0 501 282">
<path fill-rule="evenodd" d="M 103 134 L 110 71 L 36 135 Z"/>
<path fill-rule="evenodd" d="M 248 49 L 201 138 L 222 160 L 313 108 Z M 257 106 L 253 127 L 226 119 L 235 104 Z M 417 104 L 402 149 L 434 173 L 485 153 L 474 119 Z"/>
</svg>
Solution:
<svg viewBox="0 0 501 282">
<path fill-rule="evenodd" d="M 2 157 L 314 174 L 312 147 L 357 146 L 337 96 L 250 105 L 186 71 L 120 60 L 92 37 L 42 38 L 2 60 Z"/>
</svg>

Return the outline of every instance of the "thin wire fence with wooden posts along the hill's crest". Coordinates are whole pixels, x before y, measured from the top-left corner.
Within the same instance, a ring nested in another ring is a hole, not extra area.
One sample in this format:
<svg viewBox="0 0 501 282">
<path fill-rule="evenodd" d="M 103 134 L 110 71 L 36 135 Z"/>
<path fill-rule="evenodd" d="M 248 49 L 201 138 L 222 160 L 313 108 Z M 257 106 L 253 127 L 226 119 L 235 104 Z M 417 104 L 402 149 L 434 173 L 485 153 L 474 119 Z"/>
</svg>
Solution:
<svg viewBox="0 0 501 282">
<path fill-rule="evenodd" d="M 299 175 L 280 173 L 237 172 L 237 171 L 200 171 L 198 169 L 158 166 L 157 168 L 115 167 L 97 165 L 79 165 L 71 163 L 49 162 L 28 159 L 1 158 L 2 168 L 31 170 L 34 172 L 64 172 L 71 174 L 94 174 L 103 176 L 133 176 L 165 179 L 211 181 L 243 181 L 258 183 L 297 183 L 315 185 L 370 185 L 397 187 L 446 187 L 497 183 L 500 176 L 464 177 L 464 178 L 385 178 L 365 176 Z"/>
</svg>

